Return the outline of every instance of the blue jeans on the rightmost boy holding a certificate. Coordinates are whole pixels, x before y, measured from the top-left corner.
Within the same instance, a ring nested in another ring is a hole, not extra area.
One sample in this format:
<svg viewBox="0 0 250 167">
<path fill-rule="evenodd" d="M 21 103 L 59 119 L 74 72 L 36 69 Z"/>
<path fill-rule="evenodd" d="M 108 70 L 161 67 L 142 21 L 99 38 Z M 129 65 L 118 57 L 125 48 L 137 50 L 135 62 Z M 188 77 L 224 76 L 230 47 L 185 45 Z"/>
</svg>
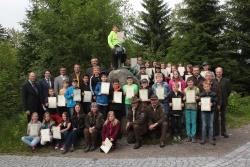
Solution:
<svg viewBox="0 0 250 167">
<path fill-rule="evenodd" d="M 202 136 L 201 140 L 205 141 L 207 132 L 209 140 L 213 138 L 213 123 L 214 123 L 214 112 L 201 112 L 201 121 L 202 121 Z"/>
</svg>

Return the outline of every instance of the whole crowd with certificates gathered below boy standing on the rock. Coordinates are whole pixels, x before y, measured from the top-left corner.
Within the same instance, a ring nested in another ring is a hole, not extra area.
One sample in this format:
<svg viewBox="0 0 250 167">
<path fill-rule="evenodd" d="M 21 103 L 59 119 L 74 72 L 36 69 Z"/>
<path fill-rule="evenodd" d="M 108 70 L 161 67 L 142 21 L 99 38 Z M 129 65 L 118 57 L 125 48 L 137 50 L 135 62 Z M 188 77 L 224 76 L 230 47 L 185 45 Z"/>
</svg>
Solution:
<svg viewBox="0 0 250 167">
<path fill-rule="evenodd" d="M 61 67 L 53 79 L 46 70 L 37 82 L 36 74 L 30 72 L 22 87 L 29 122 L 22 141 L 34 151 L 39 143 L 48 143 L 41 129 L 50 129 L 49 142 L 66 153 L 74 150 L 80 138 L 85 140 L 84 151 L 89 152 L 105 145 L 106 139 L 114 149 L 123 135 L 134 143 L 134 149 L 142 146 L 145 137 L 159 139 L 164 147 L 167 134 L 175 141 L 186 138 L 195 143 L 198 138 L 200 144 L 208 137 L 212 145 L 220 134 L 229 137 L 226 111 L 231 86 L 222 67 L 213 72 L 207 62 L 201 70 L 198 65 L 136 60 L 128 69 L 133 75 L 127 76 L 124 85 L 118 79 L 108 80 L 109 72 L 98 65 L 97 58 L 91 59 L 92 66 L 85 73 L 75 64 L 71 75 Z M 126 65 L 131 63 L 127 59 Z M 80 100 L 76 90 L 81 92 Z M 50 107 L 50 99 L 59 100 L 59 96 L 65 98 L 65 105 Z M 53 139 L 53 127 L 60 127 L 61 139 Z"/>
</svg>

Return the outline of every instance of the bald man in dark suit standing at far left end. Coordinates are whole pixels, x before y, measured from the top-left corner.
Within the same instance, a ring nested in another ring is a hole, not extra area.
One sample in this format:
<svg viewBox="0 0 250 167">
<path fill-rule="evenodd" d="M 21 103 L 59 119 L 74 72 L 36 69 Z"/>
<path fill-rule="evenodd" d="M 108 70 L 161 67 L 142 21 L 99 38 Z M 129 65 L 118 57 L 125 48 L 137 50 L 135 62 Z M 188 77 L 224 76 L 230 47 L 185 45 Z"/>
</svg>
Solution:
<svg viewBox="0 0 250 167">
<path fill-rule="evenodd" d="M 39 120 L 42 120 L 44 113 L 42 93 L 40 85 L 36 83 L 36 74 L 34 72 L 29 73 L 28 81 L 22 87 L 22 100 L 28 121 L 30 121 L 33 112 L 37 112 Z"/>
</svg>

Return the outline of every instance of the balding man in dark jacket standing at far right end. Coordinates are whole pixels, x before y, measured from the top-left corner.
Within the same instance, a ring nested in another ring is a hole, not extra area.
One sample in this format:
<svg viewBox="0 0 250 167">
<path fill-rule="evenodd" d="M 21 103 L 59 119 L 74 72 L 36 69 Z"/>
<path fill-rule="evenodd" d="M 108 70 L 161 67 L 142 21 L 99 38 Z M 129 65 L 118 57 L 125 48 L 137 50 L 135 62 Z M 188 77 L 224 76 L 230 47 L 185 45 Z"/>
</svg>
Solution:
<svg viewBox="0 0 250 167">
<path fill-rule="evenodd" d="M 218 111 L 220 112 L 221 122 L 219 123 L 219 114 L 215 114 L 215 136 L 219 135 L 219 126 L 221 125 L 221 135 L 228 138 L 226 131 L 226 111 L 228 104 L 228 97 L 231 93 L 231 83 L 229 79 L 223 77 L 223 68 L 217 67 L 215 69 L 215 83 L 218 87 Z M 218 112 L 217 112 L 218 113 Z"/>
</svg>

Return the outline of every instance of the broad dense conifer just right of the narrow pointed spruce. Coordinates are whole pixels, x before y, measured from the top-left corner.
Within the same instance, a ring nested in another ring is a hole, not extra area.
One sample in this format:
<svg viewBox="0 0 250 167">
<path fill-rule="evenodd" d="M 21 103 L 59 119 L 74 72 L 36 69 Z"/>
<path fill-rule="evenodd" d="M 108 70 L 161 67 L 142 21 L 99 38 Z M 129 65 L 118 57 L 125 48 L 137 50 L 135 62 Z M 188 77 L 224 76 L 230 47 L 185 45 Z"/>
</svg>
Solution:
<svg viewBox="0 0 250 167">
<path fill-rule="evenodd" d="M 175 63 L 217 64 L 220 57 L 220 34 L 224 25 L 218 0 L 184 0 L 174 12 L 175 36 L 168 60 Z"/>
</svg>

